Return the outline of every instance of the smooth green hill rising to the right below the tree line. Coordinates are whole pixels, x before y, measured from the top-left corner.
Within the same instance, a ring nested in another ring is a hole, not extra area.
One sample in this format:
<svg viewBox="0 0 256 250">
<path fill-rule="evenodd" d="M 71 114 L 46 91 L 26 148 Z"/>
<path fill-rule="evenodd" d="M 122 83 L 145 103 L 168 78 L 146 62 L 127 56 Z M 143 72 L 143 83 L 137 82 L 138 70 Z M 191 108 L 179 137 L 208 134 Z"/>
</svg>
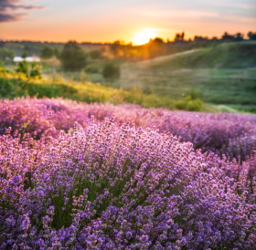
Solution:
<svg viewBox="0 0 256 250">
<path fill-rule="evenodd" d="M 223 43 L 144 61 L 155 68 L 253 68 L 256 67 L 256 42 Z"/>
</svg>

